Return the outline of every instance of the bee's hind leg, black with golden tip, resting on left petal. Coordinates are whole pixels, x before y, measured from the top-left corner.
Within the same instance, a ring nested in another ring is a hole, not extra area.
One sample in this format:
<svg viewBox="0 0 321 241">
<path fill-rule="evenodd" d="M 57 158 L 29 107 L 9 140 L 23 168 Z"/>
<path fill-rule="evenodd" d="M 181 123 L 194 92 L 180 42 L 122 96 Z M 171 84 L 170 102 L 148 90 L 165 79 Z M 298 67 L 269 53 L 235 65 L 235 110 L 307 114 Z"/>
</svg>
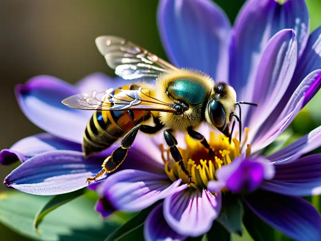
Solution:
<svg viewBox="0 0 321 241">
<path fill-rule="evenodd" d="M 94 178 L 87 178 L 86 182 L 90 183 L 91 181 L 96 181 L 96 179 L 103 175 L 105 172 L 110 173 L 115 171 L 118 166 L 120 166 L 120 164 L 122 164 L 122 162 L 125 160 L 128 153 L 128 148 L 133 145 L 135 137 L 139 130 L 148 134 L 153 134 L 162 129 L 163 124 L 161 124 L 159 121 L 157 122 L 156 119 L 158 120 L 158 118 L 154 119 L 154 122 L 156 122 L 155 126 L 139 124 L 131 129 L 121 140 L 120 147 L 117 147 L 111 153 L 111 155 L 105 159 L 105 161 L 101 165 L 103 169 Z"/>
</svg>

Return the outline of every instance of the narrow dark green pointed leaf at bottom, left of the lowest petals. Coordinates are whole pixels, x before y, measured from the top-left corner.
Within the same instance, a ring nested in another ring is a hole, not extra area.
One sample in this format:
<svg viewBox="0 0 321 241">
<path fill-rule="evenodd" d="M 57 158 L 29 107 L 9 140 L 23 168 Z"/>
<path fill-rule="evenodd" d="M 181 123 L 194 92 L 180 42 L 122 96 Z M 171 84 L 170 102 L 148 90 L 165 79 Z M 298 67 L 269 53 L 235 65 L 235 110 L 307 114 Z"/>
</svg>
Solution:
<svg viewBox="0 0 321 241">
<path fill-rule="evenodd" d="M 158 204 L 158 202 L 157 202 Z M 140 211 L 134 218 L 130 219 L 123 226 L 117 228 L 112 234 L 110 234 L 105 241 L 117 241 L 117 240 L 131 240 L 126 237 L 131 237 L 132 232 L 137 232 L 136 229 L 142 228 L 147 218 L 148 214 L 153 210 L 153 208 L 157 205 L 154 204 L 142 211 Z"/>
</svg>

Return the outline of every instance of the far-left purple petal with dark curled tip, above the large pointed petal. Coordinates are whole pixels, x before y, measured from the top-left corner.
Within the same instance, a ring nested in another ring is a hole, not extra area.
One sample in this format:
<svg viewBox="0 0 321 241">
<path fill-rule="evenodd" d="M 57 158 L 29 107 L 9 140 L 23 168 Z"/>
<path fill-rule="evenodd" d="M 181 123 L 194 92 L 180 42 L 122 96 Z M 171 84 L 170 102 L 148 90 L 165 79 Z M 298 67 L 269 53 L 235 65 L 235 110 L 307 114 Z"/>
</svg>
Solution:
<svg viewBox="0 0 321 241">
<path fill-rule="evenodd" d="M 24 162 L 40 153 L 54 150 L 81 151 L 81 145 L 48 133 L 41 133 L 21 139 L 10 149 L 1 150 L 0 164 L 8 165 L 16 161 Z"/>
</svg>

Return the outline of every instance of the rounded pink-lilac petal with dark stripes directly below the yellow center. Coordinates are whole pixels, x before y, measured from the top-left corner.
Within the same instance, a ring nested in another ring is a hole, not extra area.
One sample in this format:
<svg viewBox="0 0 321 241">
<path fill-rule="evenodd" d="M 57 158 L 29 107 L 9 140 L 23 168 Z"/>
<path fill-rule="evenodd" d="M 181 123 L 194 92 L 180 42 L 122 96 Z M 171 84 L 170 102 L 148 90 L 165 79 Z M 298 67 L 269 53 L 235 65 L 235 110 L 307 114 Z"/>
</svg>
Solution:
<svg viewBox="0 0 321 241">
<path fill-rule="evenodd" d="M 164 200 L 164 217 L 178 234 L 197 237 L 212 227 L 221 210 L 221 192 L 203 189 L 176 192 Z M 188 221 L 187 221 L 188 220 Z"/>
</svg>

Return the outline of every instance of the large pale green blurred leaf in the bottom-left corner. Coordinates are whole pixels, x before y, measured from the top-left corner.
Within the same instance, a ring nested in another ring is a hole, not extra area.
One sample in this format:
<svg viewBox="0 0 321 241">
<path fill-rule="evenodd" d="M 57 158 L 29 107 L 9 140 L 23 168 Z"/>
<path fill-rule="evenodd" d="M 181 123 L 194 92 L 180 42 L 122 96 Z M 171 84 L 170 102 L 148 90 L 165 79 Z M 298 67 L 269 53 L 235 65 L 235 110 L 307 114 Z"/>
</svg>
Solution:
<svg viewBox="0 0 321 241">
<path fill-rule="evenodd" d="M 112 218 L 104 222 L 94 211 L 95 203 L 84 196 L 50 212 L 43 218 L 41 233 L 33 229 L 39 207 L 52 196 L 36 196 L 23 192 L 0 194 L 0 222 L 16 232 L 36 240 L 104 240 L 120 225 Z"/>
</svg>

